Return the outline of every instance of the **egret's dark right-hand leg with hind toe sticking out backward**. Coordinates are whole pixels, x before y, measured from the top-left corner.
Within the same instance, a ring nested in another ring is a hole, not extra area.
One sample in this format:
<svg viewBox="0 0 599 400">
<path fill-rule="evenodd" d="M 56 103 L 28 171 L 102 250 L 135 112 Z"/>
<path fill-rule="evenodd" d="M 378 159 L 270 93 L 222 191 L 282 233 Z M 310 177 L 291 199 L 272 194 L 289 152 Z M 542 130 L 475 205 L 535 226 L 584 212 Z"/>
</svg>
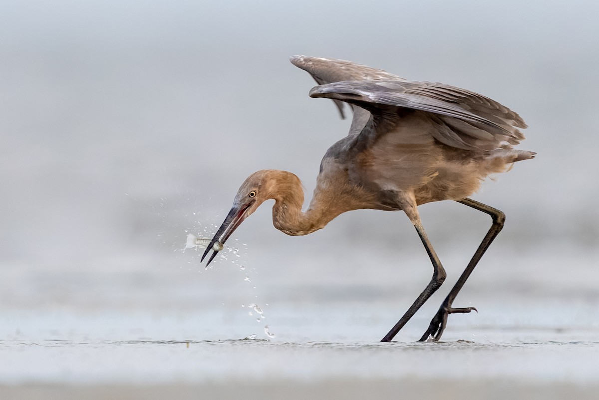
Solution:
<svg viewBox="0 0 599 400">
<path fill-rule="evenodd" d="M 491 242 L 495 239 L 497 234 L 499 234 L 501 228 L 503 228 L 503 223 L 506 220 L 506 215 L 504 213 L 502 213 L 500 210 L 489 207 L 486 204 L 482 204 L 472 199 L 463 199 L 459 200 L 458 202 L 476 210 L 483 211 L 483 213 L 489 214 L 493 219 L 493 225 L 491 225 L 491 228 L 485 235 L 485 238 L 483 238 L 482 243 L 480 243 L 479 248 L 476 250 L 476 253 L 474 253 L 474 256 L 472 256 L 472 259 L 468 263 L 468 266 L 466 266 L 466 269 L 464 269 L 464 272 L 462 272 L 462 275 L 459 277 L 455 286 L 453 286 L 451 292 L 449 292 L 449 295 L 447 295 L 443 301 L 443 304 L 441 304 L 437 314 L 435 314 L 435 316 L 432 318 L 431 324 L 428 326 L 428 329 L 426 329 L 426 332 L 424 332 L 422 338 L 419 340 L 421 342 L 428 340 L 429 338 L 431 338 L 433 341 L 438 341 L 443 334 L 445 326 L 447 325 L 447 316 L 449 316 L 449 314 L 470 313 L 472 310 L 477 311 L 474 307 L 452 308 L 453 300 L 458 295 L 459 290 L 462 289 L 462 286 L 464 286 L 465 281 L 468 279 L 474 267 L 479 262 L 480 257 L 485 254 L 485 251 L 489 248 Z"/>
</svg>

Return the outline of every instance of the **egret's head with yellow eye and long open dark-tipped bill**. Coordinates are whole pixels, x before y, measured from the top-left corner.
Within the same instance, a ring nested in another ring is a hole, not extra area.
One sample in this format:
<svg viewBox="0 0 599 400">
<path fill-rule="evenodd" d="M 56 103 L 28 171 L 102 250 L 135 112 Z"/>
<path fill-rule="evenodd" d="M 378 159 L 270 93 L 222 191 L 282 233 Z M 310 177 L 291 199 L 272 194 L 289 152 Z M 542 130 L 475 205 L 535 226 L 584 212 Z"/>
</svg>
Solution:
<svg viewBox="0 0 599 400">
<path fill-rule="evenodd" d="M 241 225 L 243 220 L 256 211 L 262 202 L 279 197 L 280 192 L 276 189 L 280 187 L 279 182 L 287 174 L 293 175 L 291 172 L 278 171 L 276 169 L 262 169 L 247 177 L 237 191 L 237 195 L 235 195 L 231 211 L 225 217 L 225 221 L 220 225 L 220 228 L 210 241 L 210 245 L 204 251 L 204 255 L 202 255 L 203 261 L 208 252 L 214 250 L 206 265 L 210 264 L 214 257 L 216 257 L 216 254 L 222 250 L 222 244 Z M 295 175 L 293 176 L 295 177 Z M 297 177 L 295 178 L 297 179 Z"/>
</svg>

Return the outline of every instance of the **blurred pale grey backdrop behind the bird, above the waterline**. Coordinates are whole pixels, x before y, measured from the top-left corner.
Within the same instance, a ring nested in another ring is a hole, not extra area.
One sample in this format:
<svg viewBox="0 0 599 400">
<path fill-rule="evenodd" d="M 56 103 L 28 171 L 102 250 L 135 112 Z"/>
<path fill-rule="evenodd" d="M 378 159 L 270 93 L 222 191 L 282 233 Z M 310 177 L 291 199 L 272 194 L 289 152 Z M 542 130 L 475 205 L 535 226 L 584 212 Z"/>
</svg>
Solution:
<svg viewBox="0 0 599 400">
<path fill-rule="evenodd" d="M 354 211 L 288 237 L 267 203 L 213 268 L 183 251 L 187 234 L 214 234 L 253 171 L 292 171 L 309 199 L 346 135 L 294 54 L 521 114 L 519 148 L 538 156 L 473 196 L 507 222 L 455 304 L 485 317 L 456 323 L 596 327 L 598 13 L 587 1 L 3 1 L 0 335 L 264 337 L 268 323 L 282 340 L 382 337 L 432 272 L 403 213 Z M 420 213 L 448 279 L 400 340 L 419 337 L 491 222 L 455 202 Z"/>
</svg>

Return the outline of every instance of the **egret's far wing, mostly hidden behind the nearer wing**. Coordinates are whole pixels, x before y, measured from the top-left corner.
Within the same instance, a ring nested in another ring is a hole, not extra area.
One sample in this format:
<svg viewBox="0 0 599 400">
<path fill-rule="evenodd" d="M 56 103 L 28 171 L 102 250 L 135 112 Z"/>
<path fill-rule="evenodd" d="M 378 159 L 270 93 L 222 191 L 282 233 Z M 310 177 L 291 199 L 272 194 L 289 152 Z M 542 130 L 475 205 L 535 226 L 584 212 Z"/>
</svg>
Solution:
<svg viewBox="0 0 599 400">
<path fill-rule="evenodd" d="M 312 75 L 316 83 L 328 84 L 338 81 L 361 81 L 361 80 L 404 80 L 382 69 L 371 68 L 370 66 L 357 64 L 346 60 L 334 60 L 320 57 L 293 56 L 290 57 L 291 63 L 298 68 L 303 69 Z M 337 105 L 341 118 L 345 119 L 343 110 L 343 101 L 332 99 Z M 370 113 L 364 108 L 353 107 L 352 126 L 349 129 L 349 135 L 359 134 L 370 119 Z"/>
</svg>

